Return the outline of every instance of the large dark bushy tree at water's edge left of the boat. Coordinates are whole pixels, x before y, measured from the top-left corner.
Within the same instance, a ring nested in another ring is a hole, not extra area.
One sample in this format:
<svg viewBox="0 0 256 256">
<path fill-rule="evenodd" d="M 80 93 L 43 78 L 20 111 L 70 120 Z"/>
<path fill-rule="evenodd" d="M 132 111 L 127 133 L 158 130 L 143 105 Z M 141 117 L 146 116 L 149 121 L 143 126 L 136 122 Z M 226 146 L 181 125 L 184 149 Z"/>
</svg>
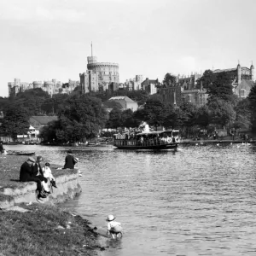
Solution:
<svg viewBox="0 0 256 256">
<path fill-rule="evenodd" d="M 69 96 L 62 104 L 59 120 L 42 131 L 45 141 L 77 143 L 86 137 L 96 137 L 106 122 L 107 113 L 95 97 Z"/>
</svg>

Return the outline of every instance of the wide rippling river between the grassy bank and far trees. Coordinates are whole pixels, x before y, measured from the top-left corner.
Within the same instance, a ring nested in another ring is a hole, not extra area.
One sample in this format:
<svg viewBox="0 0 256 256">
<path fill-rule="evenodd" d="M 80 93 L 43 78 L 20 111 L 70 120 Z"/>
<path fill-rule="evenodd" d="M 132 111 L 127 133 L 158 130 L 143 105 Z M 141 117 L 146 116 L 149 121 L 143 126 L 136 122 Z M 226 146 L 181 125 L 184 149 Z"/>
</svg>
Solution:
<svg viewBox="0 0 256 256">
<path fill-rule="evenodd" d="M 63 164 L 67 148 L 36 151 Z M 254 145 L 197 145 L 179 151 L 73 148 L 82 194 L 64 207 L 106 229 L 108 214 L 124 228 L 102 238 L 103 256 L 256 255 Z"/>
</svg>

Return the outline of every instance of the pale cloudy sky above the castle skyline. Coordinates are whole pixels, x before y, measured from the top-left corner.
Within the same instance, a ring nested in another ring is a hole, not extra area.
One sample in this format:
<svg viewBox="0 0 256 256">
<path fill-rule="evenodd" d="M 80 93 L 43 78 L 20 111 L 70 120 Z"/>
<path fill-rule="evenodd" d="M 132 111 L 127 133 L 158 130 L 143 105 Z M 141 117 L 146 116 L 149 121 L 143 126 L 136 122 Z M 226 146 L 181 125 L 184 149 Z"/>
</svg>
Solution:
<svg viewBox="0 0 256 256">
<path fill-rule="evenodd" d="M 119 82 L 256 63 L 254 0 L 0 0 L 0 96 L 8 82 L 79 80 L 87 56 Z"/>
</svg>

